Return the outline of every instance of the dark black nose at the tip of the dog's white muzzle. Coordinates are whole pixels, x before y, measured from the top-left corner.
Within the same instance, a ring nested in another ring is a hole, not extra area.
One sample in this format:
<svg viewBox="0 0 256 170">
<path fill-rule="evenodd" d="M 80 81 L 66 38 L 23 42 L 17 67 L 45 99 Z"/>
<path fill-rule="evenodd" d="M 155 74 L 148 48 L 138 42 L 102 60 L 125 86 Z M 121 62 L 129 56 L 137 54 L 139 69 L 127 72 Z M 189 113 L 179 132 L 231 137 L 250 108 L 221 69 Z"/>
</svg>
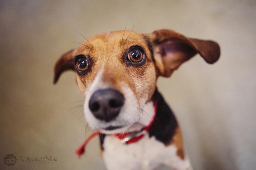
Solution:
<svg viewBox="0 0 256 170">
<path fill-rule="evenodd" d="M 102 89 L 93 93 L 89 108 L 97 119 L 109 122 L 119 114 L 124 102 L 125 98 L 119 91 Z"/>
</svg>

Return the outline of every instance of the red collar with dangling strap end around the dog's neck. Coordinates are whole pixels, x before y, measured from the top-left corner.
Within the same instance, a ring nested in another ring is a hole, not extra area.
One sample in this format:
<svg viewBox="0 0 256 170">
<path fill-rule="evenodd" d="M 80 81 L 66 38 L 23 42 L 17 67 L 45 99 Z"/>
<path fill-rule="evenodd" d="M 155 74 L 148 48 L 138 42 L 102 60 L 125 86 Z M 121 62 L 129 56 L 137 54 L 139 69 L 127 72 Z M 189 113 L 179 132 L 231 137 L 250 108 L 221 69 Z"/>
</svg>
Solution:
<svg viewBox="0 0 256 170">
<path fill-rule="evenodd" d="M 116 134 L 113 134 L 112 136 L 115 136 L 118 139 L 120 139 L 122 144 L 131 144 L 131 143 L 134 143 L 134 142 L 138 142 L 140 139 L 142 139 L 145 136 L 145 133 L 147 133 L 148 130 L 150 129 L 150 127 L 153 125 L 156 114 L 157 114 L 157 101 L 154 102 L 154 116 L 153 116 L 153 119 L 140 132 L 116 133 Z M 93 139 L 93 137 L 95 137 L 99 134 L 101 134 L 100 131 L 96 131 L 96 132 L 92 133 L 84 141 L 84 143 L 76 150 L 76 154 L 79 156 L 79 158 L 82 154 L 85 153 L 85 147 L 86 147 L 87 143 L 90 142 L 90 140 Z"/>
</svg>

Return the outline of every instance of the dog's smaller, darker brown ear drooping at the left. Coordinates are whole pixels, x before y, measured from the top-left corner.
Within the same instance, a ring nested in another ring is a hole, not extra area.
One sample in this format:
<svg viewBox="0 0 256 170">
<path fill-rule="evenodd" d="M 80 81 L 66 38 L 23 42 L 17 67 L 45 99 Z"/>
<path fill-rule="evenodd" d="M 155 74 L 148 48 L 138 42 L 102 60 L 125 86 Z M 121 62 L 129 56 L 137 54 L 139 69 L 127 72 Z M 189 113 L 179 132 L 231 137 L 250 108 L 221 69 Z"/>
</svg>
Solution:
<svg viewBox="0 0 256 170">
<path fill-rule="evenodd" d="M 53 83 L 55 84 L 61 73 L 66 70 L 75 70 L 75 64 L 74 64 L 74 56 L 76 55 L 77 49 L 72 49 L 65 54 L 63 54 L 58 61 L 55 63 L 54 66 L 54 80 Z"/>
</svg>

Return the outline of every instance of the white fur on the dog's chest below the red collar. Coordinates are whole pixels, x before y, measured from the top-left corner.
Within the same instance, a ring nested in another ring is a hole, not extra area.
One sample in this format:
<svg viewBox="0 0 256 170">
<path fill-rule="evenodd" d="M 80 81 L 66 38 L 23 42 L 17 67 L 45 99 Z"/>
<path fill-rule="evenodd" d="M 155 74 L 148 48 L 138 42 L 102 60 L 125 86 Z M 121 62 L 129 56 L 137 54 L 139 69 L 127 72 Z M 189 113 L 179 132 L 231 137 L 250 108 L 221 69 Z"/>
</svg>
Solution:
<svg viewBox="0 0 256 170">
<path fill-rule="evenodd" d="M 172 170 L 192 170 L 189 159 L 177 156 L 175 145 L 165 146 L 146 134 L 136 143 L 121 144 L 113 136 L 104 140 L 103 159 L 108 170 L 157 170 L 165 164 Z"/>
</svg>

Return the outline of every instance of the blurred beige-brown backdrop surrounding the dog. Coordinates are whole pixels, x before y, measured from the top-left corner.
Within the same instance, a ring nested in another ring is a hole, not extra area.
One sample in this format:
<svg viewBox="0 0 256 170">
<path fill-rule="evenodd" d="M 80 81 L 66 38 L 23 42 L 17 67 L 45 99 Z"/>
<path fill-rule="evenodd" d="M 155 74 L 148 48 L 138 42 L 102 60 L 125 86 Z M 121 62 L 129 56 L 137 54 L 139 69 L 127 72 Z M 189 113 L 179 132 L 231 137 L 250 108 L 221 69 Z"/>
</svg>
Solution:
<svg viewBox="0 0 256 170">
<path fill-rule="evenodd" d="M 75 150 L 92 132 L 80 106 L 84 97 L 67 71 L 53 85 L 61 54 L 85 37 L 134 28 L 146 33 L 173 29 L 215 40 L 214 65 L 195 56 L 158 88 L 183 130 L 194 170 L 256 167 L 255 0 L 1 0 L 0 169 L 105 170 L 99 141 L 78 159 Z M 86 130 L 87 129 L 87 130 Z M 12 153 L 54 163 L 18 161 Z"/>
</svg>

